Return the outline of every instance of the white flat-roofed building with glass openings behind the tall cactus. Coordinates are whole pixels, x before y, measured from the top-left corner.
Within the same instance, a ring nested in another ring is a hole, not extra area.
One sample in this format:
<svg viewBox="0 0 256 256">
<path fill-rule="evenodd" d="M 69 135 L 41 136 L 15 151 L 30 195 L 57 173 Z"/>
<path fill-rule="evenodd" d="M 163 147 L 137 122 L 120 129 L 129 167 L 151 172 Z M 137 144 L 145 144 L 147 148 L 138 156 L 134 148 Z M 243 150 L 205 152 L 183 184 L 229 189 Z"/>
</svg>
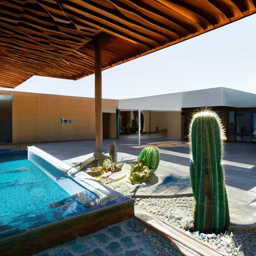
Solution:
<svg viewBox="0 0 256 256">
<path fill-rule="evenodd" d="M 140 109 L 141 132 L 166 130 L 167 138 L 186 139 L 191 114 L 204 107 L 218 112 L 229 140 L 256 140 L 256 94 L 225 87 L 120 99 L 121 132 L 136 126 Z"/>
</svg>

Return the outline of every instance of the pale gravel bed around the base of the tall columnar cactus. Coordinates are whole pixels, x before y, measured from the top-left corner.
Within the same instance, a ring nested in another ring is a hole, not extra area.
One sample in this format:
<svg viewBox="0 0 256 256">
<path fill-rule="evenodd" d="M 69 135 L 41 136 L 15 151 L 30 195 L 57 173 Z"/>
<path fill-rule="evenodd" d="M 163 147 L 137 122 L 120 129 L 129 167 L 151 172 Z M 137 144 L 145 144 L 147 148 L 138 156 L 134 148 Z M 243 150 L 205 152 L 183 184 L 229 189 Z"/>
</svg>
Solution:
<svg viewBox="0 0 256 256">
<path fill-rule="evenodd" d="M 142 209 L 159 220 L 163 220 L 178 228 L 182 228 L 184 223 L 192 218 L 193 203 L 193 197 L 168 199 L 137 198 L 135 200 L 135 208 Z M 228 256 L 243 255 L 240 254 L 240 249 L 244 251 L 245 256 L 256 256 L 256 229 L 230 228 L 230 231 L 234 234 L 238 245 L 240 245 L 238 248 L 235 247 L 232 241 L 230 241 L 231 237 L 227 234 L 220 234 L 216 236 L 215 234 L 186 232 Z"/>
</svg>

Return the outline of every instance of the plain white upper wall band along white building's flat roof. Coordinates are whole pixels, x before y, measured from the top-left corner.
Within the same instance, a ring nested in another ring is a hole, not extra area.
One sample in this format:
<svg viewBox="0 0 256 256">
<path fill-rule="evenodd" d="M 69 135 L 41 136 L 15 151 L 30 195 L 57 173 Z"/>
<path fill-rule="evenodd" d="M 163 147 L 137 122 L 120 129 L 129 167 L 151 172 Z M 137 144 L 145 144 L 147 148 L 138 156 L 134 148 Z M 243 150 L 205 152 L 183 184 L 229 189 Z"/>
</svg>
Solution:
<svg viewBox="0 0 256 256">
<path fill-rule="evenodd" d="M 186 107 L 256 107 L 256 94 L 225 87 L 120 99 L 119 109 L 180 111 Z"/>
</svg>

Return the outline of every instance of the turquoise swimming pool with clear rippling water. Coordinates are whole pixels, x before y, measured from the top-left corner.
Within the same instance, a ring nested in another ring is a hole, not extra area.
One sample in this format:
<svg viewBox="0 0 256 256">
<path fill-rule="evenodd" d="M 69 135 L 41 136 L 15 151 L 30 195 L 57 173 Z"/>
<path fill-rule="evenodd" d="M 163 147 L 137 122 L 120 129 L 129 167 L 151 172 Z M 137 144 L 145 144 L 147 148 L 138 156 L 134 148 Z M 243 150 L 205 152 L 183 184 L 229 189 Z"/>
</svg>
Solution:
<svg viewBox="0 0 256 256">
<path fill-rule="evenodd" d="M 96 204 L 94 193 L 60 170 L 50 164 L 47 169 L 39 167 L 27 159 L 27 151 L 0 151 L 0 239 L 86 211 L 87 206 Z"/>
</svg>

